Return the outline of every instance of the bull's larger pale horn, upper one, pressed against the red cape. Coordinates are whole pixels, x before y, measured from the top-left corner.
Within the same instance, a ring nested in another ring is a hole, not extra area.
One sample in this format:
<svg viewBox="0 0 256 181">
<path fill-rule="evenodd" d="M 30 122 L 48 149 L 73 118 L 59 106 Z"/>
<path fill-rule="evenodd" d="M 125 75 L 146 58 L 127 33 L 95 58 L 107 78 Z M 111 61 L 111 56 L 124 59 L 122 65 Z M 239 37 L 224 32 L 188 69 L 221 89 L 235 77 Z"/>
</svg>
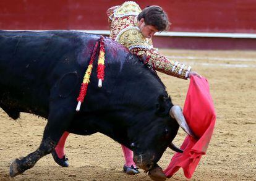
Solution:
<svg viewBox="0 0 256 181">
<path fill-rule="evenodd" d="M 191 137 L 197 138 L 195 134 L 192 132 L 192 130 L 189 128 L 189 125 L 187 125 L 186 119 L 182 113 L 181 107 L 175 105 L 171 107 L 170 116 L 177 120 L 177 123 L 181 126 L 181 128 Z"/>
</svg>

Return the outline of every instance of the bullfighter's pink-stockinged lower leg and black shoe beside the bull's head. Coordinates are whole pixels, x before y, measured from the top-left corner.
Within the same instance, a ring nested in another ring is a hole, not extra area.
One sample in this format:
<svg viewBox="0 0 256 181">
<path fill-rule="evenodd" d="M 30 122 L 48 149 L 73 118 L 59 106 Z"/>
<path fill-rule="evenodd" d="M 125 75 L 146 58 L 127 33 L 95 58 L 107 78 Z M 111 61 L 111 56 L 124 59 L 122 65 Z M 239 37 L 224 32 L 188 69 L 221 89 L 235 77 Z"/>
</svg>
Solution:
<svg viewBox="0 0 256 181">
<path fill-rule="evenodd" d="M 139 170 L 134 162 L 134 153 L 124 145 L 121 145 L 121 147 L 122 152 L 124 153 L 124 159 L 126 161 L 124 164 L 124 172 L 129 175 L 139 174 Z"/>
</svg>

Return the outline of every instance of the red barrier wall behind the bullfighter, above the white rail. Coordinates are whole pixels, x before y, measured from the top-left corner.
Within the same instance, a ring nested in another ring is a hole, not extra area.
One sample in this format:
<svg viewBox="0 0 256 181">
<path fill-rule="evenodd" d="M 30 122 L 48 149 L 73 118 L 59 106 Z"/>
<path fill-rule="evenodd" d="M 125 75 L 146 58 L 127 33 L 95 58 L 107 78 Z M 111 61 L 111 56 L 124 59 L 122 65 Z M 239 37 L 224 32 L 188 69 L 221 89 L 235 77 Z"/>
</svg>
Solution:
<svg viewBox="0 0 256 181">
<path fill-rule="evenodd" d="M 106 10 L 124 1 L 1 0 L 0 29 L 108 30 Z M 173 32 L 256 33 L 255 0 L 137 1 L 168 12 Z"/>
</svg>

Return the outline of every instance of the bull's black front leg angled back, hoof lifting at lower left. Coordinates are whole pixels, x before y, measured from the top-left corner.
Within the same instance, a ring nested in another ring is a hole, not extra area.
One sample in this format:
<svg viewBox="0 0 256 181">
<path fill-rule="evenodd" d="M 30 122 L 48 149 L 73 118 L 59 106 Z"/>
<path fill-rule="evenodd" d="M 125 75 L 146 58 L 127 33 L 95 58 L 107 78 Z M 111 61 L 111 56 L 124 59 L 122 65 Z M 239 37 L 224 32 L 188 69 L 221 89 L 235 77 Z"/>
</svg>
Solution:
<svg viewBox="0 0 256 181">
<path fill-rule="evenodd" d="M 51 153 L 62 134 L 68 128 L 73 116 L 73 110 L 69 111 L 64 108 L 51 110 L 39 148 L 33 153 L 28 154 L 25 158 L 15 159 L 10 166 L 10 176 L 15 177 L 15 175 L 22 174 L 25 170 L 31 169 L 40 158 Z"/>
</svg>

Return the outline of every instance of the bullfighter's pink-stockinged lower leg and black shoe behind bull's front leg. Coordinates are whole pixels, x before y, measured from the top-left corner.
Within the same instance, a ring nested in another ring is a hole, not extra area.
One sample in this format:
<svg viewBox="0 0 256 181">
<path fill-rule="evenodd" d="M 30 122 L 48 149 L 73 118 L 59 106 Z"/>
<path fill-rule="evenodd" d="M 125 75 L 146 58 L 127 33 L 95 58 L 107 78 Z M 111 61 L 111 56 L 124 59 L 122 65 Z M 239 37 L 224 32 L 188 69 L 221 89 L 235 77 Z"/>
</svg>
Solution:
<svg viewBox="0 0 256 181">
<path fill-rule="evenodd" d="M 58 144 L 51 152 L 54 161 L 62 167 L 69 167 L 68 159 L 66 158 L 65 154 L 65 143 L 67 140 L 67 137 L 69 136 L 69 132 L 64 132 L 61 136 L 61 139 L 59 139 Z"/>
</svg>

